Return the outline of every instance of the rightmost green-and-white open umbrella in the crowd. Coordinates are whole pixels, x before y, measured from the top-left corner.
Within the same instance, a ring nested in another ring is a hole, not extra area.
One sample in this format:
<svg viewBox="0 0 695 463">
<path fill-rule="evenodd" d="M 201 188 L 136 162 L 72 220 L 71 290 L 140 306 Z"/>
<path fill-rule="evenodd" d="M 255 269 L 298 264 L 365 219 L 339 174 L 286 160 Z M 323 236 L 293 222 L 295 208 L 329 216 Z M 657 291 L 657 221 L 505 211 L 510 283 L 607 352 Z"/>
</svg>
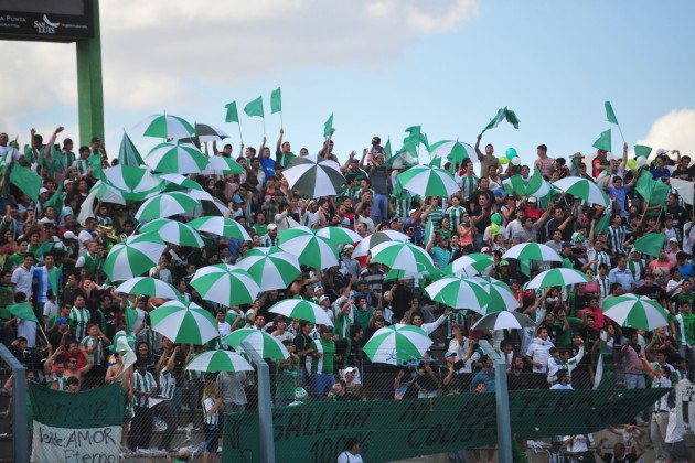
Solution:
<svg viewBox="0 0 695 463">
<path fill-rule="evenodd" d="M 624 294 L 603 302 L 603 315 L 620 326 L 652 331 L 669 325 L 669 313 L 645 295 Z"/>
</svg>

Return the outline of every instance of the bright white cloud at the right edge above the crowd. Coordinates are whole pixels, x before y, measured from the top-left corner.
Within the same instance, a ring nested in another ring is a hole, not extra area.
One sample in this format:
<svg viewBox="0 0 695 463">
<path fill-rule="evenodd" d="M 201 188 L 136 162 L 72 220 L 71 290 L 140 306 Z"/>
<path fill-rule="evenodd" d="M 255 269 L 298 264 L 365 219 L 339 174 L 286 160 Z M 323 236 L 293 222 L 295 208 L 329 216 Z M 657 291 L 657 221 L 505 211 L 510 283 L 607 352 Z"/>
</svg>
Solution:
<svg viewBox="0 0 695 463">
<path fill-rule="evenodd" d="M 654 149 L 681 150 L 682 154 L 695 155 L 695 109 L 674 109 L 652 123 L 649 134 L 635 141 Z"/>
</svg>

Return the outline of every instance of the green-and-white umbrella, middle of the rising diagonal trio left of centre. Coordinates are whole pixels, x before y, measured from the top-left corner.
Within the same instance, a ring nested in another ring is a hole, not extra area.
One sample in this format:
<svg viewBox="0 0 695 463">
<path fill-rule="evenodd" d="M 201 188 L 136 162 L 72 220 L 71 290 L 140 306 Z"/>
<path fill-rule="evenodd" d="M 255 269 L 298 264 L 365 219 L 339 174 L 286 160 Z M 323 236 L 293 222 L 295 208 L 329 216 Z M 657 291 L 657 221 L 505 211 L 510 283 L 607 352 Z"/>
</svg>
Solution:
<svg viewBox="0 0 695 463">
<path fill-rule="evenodd" d="M 297 256 L 276 246 L 249 249 L 236 267 L 246 270 L 260 291 L 286 289 L 301 274 Z"/>
</svg>

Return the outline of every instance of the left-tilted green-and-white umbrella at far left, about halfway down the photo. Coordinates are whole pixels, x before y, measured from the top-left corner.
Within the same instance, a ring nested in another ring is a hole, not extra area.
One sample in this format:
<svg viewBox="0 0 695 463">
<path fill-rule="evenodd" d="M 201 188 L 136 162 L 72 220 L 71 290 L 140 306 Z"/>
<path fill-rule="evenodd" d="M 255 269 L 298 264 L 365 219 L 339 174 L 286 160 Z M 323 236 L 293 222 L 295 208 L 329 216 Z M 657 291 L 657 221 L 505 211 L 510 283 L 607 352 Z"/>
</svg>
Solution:
<svg viewBox="0 0 695 463">
<path fill-rule="evenodd" d="M 104 261 L 104 272 L 111 281 L 139 277 L 157 266 L 165 248 L 157 234 L 131 236 L 111 248 Z"/>
</svg>

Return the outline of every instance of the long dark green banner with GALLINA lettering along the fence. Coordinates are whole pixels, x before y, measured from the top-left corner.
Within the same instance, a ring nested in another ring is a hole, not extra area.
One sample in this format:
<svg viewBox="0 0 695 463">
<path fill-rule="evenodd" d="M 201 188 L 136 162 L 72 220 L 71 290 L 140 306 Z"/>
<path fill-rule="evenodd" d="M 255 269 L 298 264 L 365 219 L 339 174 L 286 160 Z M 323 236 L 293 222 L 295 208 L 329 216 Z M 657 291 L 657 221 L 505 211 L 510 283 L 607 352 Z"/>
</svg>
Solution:
<svg viewBox="0 0 695 463">
<path fill-rule="evenodd" d="M 510 392 L 512 430 L 524 439 L 595 432 L 624 424 L 664 395 L 659 389 Z M 494 394 L 432 399 L 309 402 L 272 410 L 276 459 L 334 462 L 350 438 L 368 462 L 498 443 Z M 224 462 L 260 462 L 258 414 L 225 416 Z"/>
</svg>

